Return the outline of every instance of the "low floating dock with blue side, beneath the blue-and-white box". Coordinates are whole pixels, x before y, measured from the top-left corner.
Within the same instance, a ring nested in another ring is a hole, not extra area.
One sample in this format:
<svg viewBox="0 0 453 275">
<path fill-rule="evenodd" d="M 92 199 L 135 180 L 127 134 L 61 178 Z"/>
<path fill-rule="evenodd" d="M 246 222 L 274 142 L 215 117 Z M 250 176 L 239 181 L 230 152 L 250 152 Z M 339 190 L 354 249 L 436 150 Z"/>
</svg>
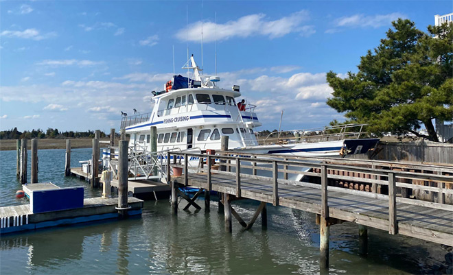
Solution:
<svg viewBox="0 0 453 275">
<path fill-rule="evenodd" d="M 141 214 L 143 200 L 130 197 L 128 204 L 130 206 L 129 215 Z M 84 199 L 82 208 L 46 213 L 32 213 L 28 204 L 4 206 L 0 207 L 0 234 L 113 219 L 118 217 L 116 206 L 118 206 L 118 198 Z"/>
</svg>

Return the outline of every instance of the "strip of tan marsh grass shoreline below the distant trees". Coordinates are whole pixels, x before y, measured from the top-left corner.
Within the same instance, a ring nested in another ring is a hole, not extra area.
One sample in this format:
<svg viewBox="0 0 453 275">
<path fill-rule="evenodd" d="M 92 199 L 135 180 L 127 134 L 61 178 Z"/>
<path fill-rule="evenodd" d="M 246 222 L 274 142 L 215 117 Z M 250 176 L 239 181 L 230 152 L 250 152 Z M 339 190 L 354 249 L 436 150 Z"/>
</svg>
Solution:
<svg viewBox="0 0 453 275">
<path fill-rule="evenodd" d="M 91 148 L 93 147 L 93 139 L 70 139 L 71 149 L 78 148 Z M 27 141 L 28 150 L 30 150 L 32 144 L 31 140 Z M 110 141 L 109 138 L 102 138 L 100 141 Z M 100 148 L 107 147 L 106 143 L 100 143 Z M 66 139 L 38 139 L 38 150 L 41 149 L 66 149 Z M 0 140 L 0 151 L 15 151 L 16 150 L 16 139 L 1 139 Z"/>
</svg>

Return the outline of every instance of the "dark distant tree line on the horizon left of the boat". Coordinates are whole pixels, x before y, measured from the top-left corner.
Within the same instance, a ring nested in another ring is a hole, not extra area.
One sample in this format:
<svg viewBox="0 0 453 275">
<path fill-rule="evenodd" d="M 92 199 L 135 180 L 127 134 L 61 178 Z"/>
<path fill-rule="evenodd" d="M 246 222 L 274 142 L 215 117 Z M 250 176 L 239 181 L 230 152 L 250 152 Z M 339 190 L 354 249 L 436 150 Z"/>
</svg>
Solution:
<svg viewBox="0 0 453 275">
<path fill-rule="evenodd" d="M 104 132 L 100 132 L 101 137 L 105 137 Z M 44 132 L 43 130 L 31 130 L 20 132 L 17 128 L 0 131 L 0 139 L 67 139 L 67 138 L 91 138 L 95 136 L 95 131 L 87 130 L 85 132 L 74 132 L 74 131 L 65 131 L 60 132 L 58 129 L 47 128 Z"/>
</svg>

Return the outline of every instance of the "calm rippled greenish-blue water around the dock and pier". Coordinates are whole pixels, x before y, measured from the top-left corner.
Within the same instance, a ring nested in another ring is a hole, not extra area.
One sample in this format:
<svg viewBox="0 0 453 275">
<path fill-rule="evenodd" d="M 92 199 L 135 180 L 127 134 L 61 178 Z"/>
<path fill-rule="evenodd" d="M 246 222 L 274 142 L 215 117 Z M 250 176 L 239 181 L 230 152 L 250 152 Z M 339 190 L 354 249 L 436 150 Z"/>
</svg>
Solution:
<svg viewBox="0 0 453 275">
<path fill-rule="evenodd" d="M 14 198 L 21 189 L 15 176 L 15 154 L 0 152 L 0 206 L 28 203 Z M 71 166 L 90 156 L 91 149 L 73 150 Z M 65 178 L 65 150 L 40 150 L 38 158 L 39 182 L 82 185 L 85 198 L 100 195 L 87 182 Z M 249 220 L 257 204 L 242 201 L 233 207 Z M 267 230 L 262 230 L 260 219 L 248 231 L 233 220 L 229 235 L 224 233 L 223 215 L 217 209 L 217 202 L 211 202 L 209 213 L 180 210 L 175 217 L 170 203 L 160 200 L 146 202 L 141 219 L 1 237 L 0 274 L 319 273 L 314 215 L 268 206 Z M 332 226 L 330 234 L 331 274 L 423 274 L 432 273 L 434 264 L 445 264 L 445 250 L 434 243 L 370 229 L 369 255 L 361 257 L 356 225 Z"/>
</svg>

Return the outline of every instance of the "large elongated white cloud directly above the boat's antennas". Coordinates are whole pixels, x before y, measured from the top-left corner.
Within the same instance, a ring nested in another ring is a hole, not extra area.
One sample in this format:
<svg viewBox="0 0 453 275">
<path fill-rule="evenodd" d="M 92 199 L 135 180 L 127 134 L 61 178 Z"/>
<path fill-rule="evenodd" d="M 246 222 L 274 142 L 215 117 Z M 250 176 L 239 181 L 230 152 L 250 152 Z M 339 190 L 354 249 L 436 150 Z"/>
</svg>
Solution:
<svg viewBox="0 0 453 275">
<path fill-rule="evenodd" d="M 217 40 L 227 40 L 234 37 L 246 38 L 258 35 L 272 39 L 292 32 L 299 32 L 302 36 L 310 36 L 314 34 L 314 27 L 301 25 L 303 21 L 308 19 L 310 19 L 308 12 L 301 10 L 275 21 L 268 20 L 266 14 L 250 14 L 224 24 L 198 21 L 178 31 L 176 38 L 187 40 L 187 36 L 189 36 L 190 41 L 198 42 L 200 41 L 201 27 L 203 27 L 203 40 L 205 42 L 212 42 L 216 38 Z"/>
</svg>

